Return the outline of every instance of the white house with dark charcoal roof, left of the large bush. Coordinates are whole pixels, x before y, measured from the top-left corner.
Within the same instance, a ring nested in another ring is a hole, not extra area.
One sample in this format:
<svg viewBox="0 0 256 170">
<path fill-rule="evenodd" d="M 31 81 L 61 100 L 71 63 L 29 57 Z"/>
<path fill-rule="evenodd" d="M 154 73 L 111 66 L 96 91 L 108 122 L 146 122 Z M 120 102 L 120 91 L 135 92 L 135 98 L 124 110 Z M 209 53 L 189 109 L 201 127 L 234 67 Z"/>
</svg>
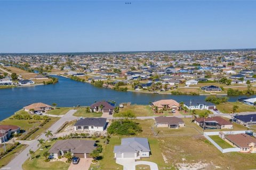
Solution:
<svg viewBox="0 0 256 170">
<path fill-rule="evenodd" d="M 74 125 L 75 131 L 77 130 L 90 130 L 90 131 L 103 131 L 107 125 L 107 118 L 85 117 L 81 118 Z"/>
</svg>

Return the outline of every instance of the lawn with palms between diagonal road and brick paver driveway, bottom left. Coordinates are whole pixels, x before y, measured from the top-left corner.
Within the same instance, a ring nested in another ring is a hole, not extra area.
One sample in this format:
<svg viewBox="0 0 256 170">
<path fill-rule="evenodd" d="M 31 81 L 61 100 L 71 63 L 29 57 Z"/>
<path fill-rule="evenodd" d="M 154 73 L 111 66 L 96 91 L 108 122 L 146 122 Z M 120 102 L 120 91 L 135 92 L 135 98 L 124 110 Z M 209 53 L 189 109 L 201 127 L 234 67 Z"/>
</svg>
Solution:
<svg viewBox="0 0 256 170">
<path fill-rule="evenodd" d="M 43 157 L 43 152 L 48 151 L 51 146 L 56 142 L 53 140 L 51 142 L 46 142 L 48 148 L 44 148 L 43 150 L 37 150 L 33 156 L 32 160 L 27 159 L 26 162 L 22 165 L 24 170 L 59 170 L 59 169 L 68 169 L 70 164 L 66 164 L 64 162 L 44 162 L 45 157 Z"/>
</svg>

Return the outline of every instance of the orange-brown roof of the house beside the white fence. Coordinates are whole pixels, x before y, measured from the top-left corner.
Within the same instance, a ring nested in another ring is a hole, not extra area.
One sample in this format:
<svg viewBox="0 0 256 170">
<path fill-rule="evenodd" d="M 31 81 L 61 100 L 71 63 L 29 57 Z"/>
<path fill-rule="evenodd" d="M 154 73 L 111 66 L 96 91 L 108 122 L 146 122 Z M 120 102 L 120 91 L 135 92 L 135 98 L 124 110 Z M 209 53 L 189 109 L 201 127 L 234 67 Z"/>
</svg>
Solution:
<svg viewBox="0 0 256 170">
<path fill-rule="evenodd" d="M 249 148 L 248 145 L 250 143 L 256 144 L 256 138 L 250 137 L 245 133 L 229 134 L 229 135 L 226 135 L 225 138 L 227 138 L 228 140 L 230 140 L 240 148 Z"/>
</svg>

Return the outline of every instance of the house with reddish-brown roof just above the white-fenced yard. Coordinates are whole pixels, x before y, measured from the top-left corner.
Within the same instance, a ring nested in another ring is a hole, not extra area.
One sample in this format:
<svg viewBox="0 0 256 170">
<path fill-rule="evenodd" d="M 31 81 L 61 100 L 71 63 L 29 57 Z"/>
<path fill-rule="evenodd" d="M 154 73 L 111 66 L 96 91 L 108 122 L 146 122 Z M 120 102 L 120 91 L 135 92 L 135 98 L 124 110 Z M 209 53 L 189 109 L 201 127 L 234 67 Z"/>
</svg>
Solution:
<svg viewBox="0 0 256 170">
<path fill-rule="evenodd" d="M 233 124 L 220 116 L 195 118 L 195 123 L 204 129 L 233 129 Z"/>
</svg>

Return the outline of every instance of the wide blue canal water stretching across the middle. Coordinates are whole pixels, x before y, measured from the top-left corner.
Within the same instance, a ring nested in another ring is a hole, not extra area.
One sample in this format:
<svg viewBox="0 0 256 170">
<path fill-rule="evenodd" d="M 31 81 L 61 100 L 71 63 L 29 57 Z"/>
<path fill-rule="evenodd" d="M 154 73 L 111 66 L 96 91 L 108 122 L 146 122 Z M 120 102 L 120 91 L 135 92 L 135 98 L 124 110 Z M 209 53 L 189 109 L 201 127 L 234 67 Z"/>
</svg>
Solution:
<svg viewBox="0 0 256 170">
<path fill-rule="evenodd" d="M 89 83 L 78 82 L 63 77 L 58 78 L 59 82 L 56 84 L 0 89 L 0 120 L 11 116 L 24 106 L 37 102 L 49 105 L 57 103 L 59 107 L 73 107 L 77 105 L 89 106 L 99 100 L 114 100 L 117 104 L 131 102 L 132 104 L 147 105 L 150 101 L 160 99 L 174 99 L 178 102 L 189 99 L 205 99 L 205 96 L 175 96 L 115 91 L 106 88 L 97 88 Z M 236 101 L 241 97 L 230 97 L 229 101 Z"/>
</svg>

